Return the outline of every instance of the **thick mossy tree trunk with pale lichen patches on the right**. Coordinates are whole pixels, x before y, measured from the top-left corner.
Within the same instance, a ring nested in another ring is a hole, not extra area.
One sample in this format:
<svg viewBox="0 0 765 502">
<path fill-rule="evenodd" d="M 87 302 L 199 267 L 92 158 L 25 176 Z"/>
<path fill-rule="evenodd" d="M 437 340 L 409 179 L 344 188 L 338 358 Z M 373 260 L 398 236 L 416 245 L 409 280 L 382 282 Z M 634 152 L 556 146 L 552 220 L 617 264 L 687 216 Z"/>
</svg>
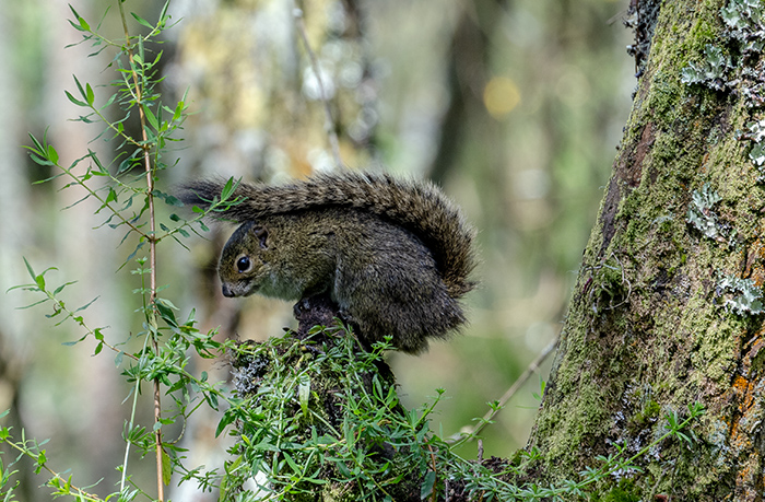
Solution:
<svg viewBox="0 0 765 502">
<path fill-rule="evenodd" d="M 640 79 L 529 448 L 546 481 L 576 480 L 701 402 L 694 441 L 659 442 L 620 476 L 645 501 L 760 501 L 765 9 L 633 4 Z"/>
</svg>

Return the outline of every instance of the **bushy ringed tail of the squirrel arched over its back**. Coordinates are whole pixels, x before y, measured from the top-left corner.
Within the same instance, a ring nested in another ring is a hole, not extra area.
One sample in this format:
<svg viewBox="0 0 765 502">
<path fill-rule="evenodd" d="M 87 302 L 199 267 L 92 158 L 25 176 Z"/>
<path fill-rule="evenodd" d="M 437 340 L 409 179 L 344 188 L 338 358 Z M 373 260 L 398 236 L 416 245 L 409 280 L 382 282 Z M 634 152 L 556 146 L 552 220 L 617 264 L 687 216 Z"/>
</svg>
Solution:
<svg viewBox="0 0 765 502">
<path fill-rule="evenodd" d="M 207 209 L 220 198 L 222 179 L 201 179 L 180 188 L 179 199 Z M 244 199 L 219 214 L 238 223 L 271 214 L 349 208 L 365 211 L 416 235 L 433 254 L 451 297 L 475 287 L 475 232 L 460 209 L 429 182 L 397 179 L 388 174 L 317 174 L 286 185 L 239 184 L 233 199 Z"/>
</svg>

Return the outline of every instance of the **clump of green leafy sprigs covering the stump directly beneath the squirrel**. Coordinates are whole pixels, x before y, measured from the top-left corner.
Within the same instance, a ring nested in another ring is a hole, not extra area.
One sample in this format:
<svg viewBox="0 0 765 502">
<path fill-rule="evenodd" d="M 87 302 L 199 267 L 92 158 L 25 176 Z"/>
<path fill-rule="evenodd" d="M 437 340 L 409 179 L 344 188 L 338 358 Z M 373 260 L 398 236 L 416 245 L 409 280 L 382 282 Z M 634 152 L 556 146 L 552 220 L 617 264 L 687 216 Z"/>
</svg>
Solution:
<svg viewBox="0 0 765 502">
<path fill-rule="evenodd" d="M 365 352 L 348 331 L 313 332 L 332 343 L 306 351 L 287 334 L 239 348 L 242 401 L 221 421 L 235 421 L 239 440 L 226 464 L 224 500 L 234 500 L 248 479 L 274 500 L 314 500 L 315 490 L 349 482 L 353 498 L 342 500 L 398 500 L 404 480 L 419 490 L 434 451 L 426 418 L 438 398 L 404 411 L 392 378 L 377 367 L 389 343 Z M 336 402 L 327 404 L 328 395 Z"/>
</svg>

